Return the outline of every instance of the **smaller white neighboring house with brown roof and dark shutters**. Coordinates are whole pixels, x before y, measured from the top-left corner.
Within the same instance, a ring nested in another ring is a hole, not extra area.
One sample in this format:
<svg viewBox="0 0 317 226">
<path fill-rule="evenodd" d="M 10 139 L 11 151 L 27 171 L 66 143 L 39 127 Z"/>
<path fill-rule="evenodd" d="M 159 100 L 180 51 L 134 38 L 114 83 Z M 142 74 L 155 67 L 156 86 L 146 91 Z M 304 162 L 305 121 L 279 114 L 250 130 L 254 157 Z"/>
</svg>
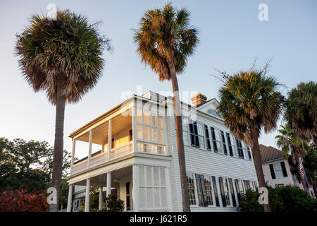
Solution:
<svg viewBox="0 0 317 226">
<path fill-rule="evenodd" d="M 260 144 L 260 153 L 264 179 L 269 186 L 291 185 L 299 186 L 304 190 L 302 183 L 297 181 L 296 176 L 290 172 L 288 160 L 280 150 Z M 311 196 L 314 197 L 313 188 L 309 190 Z"/>
</svg>

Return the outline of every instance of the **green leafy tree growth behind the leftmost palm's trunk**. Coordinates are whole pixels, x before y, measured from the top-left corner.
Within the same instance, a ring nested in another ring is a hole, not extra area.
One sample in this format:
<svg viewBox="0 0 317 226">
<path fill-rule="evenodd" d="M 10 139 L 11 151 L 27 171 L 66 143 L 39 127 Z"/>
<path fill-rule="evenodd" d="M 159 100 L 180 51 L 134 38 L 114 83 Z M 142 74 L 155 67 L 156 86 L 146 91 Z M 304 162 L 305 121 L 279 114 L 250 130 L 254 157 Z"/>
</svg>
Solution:
<svg viewBox="0 0 317 226">
<path fill-rule="evenodd" d="M 29 193 L 42 192 L 51 186 L 51 165 L 54 149 L 46 141 L 8 141 L 0 138 L 0 192 L 24 189 Z M 64 150 L 63 180 L 60 200 L 67 205 L 70 153 Z"/>
</svg>

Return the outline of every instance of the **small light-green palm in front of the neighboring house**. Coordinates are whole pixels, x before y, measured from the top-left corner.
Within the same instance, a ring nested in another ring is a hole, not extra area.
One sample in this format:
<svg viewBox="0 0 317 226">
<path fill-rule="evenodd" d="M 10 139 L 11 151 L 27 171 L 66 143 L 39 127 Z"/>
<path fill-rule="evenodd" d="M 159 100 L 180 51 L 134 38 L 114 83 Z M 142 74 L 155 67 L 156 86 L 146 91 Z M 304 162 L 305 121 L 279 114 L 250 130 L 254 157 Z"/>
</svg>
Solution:
<svg viewBox="0 0 317 226">
<path fill-rule="evenodd" d="M 282 153 L 285 158 L 291 155 L 292 163 L 297 165 L 298 172 L 300 172 L 299 168 L 299 157 L 304 161 L 305 158 L 305 150 L 303 141 L 294 133 L 294 130 L 291 129 L 290 124 L 285 124 L 282 126 L 282 129 L 279 129 L 279 135 L 275 136 L 277 139 L 276 144 L 279 148 L 282 149 Z M 301 177 L 301 182 L 305 191 L 309 194 L 308 189 L 306 189 L 306 183 L 304 178 Z"/>
</svg>

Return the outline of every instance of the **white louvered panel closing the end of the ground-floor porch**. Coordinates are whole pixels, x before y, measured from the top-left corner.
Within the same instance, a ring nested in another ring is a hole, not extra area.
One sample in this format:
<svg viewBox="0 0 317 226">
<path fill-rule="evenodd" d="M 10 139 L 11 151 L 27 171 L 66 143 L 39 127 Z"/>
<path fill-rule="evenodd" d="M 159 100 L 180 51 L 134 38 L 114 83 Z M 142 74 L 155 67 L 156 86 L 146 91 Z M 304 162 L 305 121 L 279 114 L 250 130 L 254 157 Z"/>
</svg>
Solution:
<svg viewBox="0 0 317 226">
<path fill-rule="evenodd" d="M 139 166 L 139 207 L 140 209 L 166 208 L 167 187 L 163 167 Z"/>
</svg>

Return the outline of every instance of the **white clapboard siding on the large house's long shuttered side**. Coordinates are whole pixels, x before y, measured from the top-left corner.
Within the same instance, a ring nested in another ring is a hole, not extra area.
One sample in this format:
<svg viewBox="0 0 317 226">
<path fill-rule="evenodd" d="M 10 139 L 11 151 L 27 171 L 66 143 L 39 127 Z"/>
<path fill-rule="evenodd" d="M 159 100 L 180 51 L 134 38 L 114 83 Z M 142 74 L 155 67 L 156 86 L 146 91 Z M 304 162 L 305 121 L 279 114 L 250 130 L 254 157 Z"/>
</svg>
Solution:
<svg viewBox="0 0 317 226">
<path fill-rule="evenodd" d="M 170 104 L 168 110 L 173 111 L 173 107 Z M 175 132 L 175 117 L 166 117 L 167 132 L 168 132 L 168 148 L 173 160 L 170 163 L 170 177 L 173 196 L 173 210 L 182 211 L 182 195 L 180 186 L 180 168 L 178 165 L 178 149 Z M 206 115 L 197 112 L 197 122 L 206 124 L 209 126 L 209 137 L 211 137 L 210 126 L 216 129 L 222 130 L 224 133 L 230 133 L 230 130 L 225 127 L 222 121 L 214 119 L 214 117 L 208 117 Z M 231 133 L 230 133 L 231 134 Z M 235 142 L 235 141 L 234 141 Z M 235 148 L 236 144 L 234 143 Z M 222 153 L 214 153 L 213 150 L 203 150 L 201 148 L 194 148 L 189 145 L 185 145 L 185 159 L 186 159 L 186 171 L 189 173 L 206 174 L 216 177 L 216 186 L 218 189 L 220 207 L 211 208 L 199 208 L 192 207 L 192 211 L 237 211 L 234 207 L 223 207 L 222 199 L 220 196 L 220 184 L 218 177 L 228 177 L 234 179 L 244 179 L 256 181 L 256 171 L 254 167 L 254 161 L 249 159 L 241 159 L 237 157 L 237 150 L 234 150 L 235 157 L 224 155 Z M 247 153 L 244 153 L 244 157 L 248 158 Z M 234 181 L 233 181 L 234 182 Z M 259 184 L 259 183 L 258 183 Z M 237 201 L 237 191 L 235 189 L 235 199 Z"/>
</svg>

